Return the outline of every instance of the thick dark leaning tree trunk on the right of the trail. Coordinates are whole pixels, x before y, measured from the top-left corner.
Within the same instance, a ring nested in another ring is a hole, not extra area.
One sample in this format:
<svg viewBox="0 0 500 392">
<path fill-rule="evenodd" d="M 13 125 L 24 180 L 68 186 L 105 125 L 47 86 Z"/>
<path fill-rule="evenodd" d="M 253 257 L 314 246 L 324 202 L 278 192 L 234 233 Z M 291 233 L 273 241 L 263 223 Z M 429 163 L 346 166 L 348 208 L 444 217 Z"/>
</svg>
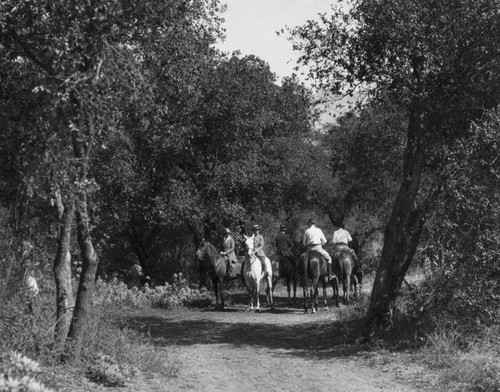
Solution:
<svg viewBox="0 0 500 392">
<path fill-rule="evenodd" d="M 373 284 L 367 315 L 367 332 L 371 336 L 381 328 L 392 326 L 395 301 L 415 254 L 424 223 L 423 212 L 417 206 L 425 160 L 421 146 L 422 123 L 418 113 L 415 111 L 410 116 L 403 181 L 385 230 L 382 257 Z"/>
</svg>

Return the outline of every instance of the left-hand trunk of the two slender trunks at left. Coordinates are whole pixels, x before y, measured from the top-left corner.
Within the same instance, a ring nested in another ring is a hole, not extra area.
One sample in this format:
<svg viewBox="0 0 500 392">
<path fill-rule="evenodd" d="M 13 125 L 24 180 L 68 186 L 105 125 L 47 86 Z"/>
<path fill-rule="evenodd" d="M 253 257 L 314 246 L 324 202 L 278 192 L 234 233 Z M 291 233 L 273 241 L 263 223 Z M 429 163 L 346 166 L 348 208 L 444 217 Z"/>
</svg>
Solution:
<svg viewBox="0 0 500 392">
<path fill-rule="evenodd" d="M 73 285 L 71 281 L 70 241 L 73 217 L 75 215 L 75 199 L 70 198 L 66 207 L 63 206 L 60 195 L 57 195 L 59 211 L 59 234 L 57 239 L 57 253 L 54 260 L 54 278 L 56 282 L 56 325 L 54 339 L 56 344 L 66 341 L 71 323 L 73 306 Z"/>
</svg>

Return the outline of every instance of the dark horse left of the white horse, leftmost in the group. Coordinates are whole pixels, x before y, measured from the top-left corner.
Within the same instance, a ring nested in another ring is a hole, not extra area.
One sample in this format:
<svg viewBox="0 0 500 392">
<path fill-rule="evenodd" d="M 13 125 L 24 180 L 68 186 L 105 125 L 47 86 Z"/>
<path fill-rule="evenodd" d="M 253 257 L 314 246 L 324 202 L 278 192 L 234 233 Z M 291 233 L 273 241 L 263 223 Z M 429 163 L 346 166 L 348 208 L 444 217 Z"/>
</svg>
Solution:
<svg viewBox="0 0 500 392">
<path fill-rule="evenodd" d="M 224 282 L 225 280 L 231 280 L 231 278 L 227 276 L 228 266 L 225 258 L 221 256 L 217 249 L 208 241 L 202 243 L 200 249 L 196 252 L 196 257 L 198 259 L 200 288 L 204 281 L 203 278 L 208 274 L 215 292 L 215 308 L 224 310 L 224 296 L 222 295 Z"/>
</svg>

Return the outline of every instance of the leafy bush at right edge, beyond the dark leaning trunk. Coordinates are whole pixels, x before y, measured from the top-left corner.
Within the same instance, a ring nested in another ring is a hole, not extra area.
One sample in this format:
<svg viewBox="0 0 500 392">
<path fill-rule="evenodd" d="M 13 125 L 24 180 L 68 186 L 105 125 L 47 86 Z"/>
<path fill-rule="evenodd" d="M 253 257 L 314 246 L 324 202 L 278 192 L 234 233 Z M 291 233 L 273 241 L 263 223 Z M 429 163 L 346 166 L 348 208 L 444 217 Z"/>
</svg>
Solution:
<svg viewBox="0 0 500 392">
<path fill-rule="evenodd" d="M 499 112 L 443 149 L 445 181 L 424 253 L 437 276 L 433 306 L 463 322 L 498 321 Z"/>
</svg>

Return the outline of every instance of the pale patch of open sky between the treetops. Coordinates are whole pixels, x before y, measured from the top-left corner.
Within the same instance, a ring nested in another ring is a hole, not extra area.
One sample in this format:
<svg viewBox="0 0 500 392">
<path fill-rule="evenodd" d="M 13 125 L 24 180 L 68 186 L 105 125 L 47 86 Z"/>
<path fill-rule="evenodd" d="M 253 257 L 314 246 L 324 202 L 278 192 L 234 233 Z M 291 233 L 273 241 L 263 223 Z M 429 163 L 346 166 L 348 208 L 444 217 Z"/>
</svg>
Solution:
<svg viewBox="0 0 500 392">
<path fill-rule="evenodd" d="M 295 27 L 319 13 L 329 13 L 337 0 L 225 0 L 226 41 L 218 45 L 225 52 L 254 54 L 269 63 L 281 80 L 290 76 L 299 53 L 293 51 L 288 34 L 278 36 L 285 26 Z"/>
</svg>

